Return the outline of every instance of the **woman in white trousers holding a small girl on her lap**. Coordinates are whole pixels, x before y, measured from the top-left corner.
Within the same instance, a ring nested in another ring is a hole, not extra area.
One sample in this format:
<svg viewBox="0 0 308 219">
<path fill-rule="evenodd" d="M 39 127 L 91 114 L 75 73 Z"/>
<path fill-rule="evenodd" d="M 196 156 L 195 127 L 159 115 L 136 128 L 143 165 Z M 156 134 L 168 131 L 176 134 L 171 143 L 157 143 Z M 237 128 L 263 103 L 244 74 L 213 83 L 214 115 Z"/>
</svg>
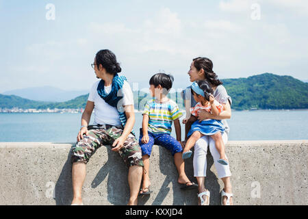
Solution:
<svg viewBox="0 0 308 219">
<path fill-rule="evenodd" d="M 199 114 L 198 120 L 205 120 L 207 118 L 222 120 L 225 130 L 222 135 L 222 140 L 224 144 L 227 143 L 229 126 L 225 119 L 231 118 L 231 97 L 228 96 L 226 89 L 222 86 L 222 82 L 217 79 L 216 73 L 213 72 L 213 63 L 206 57 L 196 57 L 192 60 L 190 65 L 190 70 L 188 71 L 190 76 L 190 81 L 194 82 L 197 80 L 207 80 L 211 88 L 214 90 L 214 97 L 216 101 L 222 104 L 223 112 L 218 116 L 213 116 L 209 112 L 202 111 Z M 196 105 L 196 101 L 190 98 L 190 87 L 186 88 L 183 92 L 183 98 L 185 100 L 186 114 L 190 115 L 190 107 Z M 187 136 L 188 131 L 190 131 L 192 123 L 185 124 L 185 136 Z M 187 140 L 187 137 L 185 138 Z M 185 142 L 184 142 L 185 144 Z M 209 146 L 209 151 L 214 158 L 214 164 L 218 172 L 218 178 L 222 179 L 224 183 L 224 189 L 221 192 L 222 205 L 233 205 L 233 194 L 230 182 L 230 168 L 229 165 L 222 165 L 217 162 L 219 159 L 219 153 L 216 149 L 215 142 L 209 136 L 203 136 L 194 145 L 194 177 L 198 181 L 198 204 L 208 205 L 209 204 L 209 191 L 205 189 L 205 177 L 207 171 L 207 146 Z M 226 155 L 227 157 L 227 155 Z"/>
</svg>

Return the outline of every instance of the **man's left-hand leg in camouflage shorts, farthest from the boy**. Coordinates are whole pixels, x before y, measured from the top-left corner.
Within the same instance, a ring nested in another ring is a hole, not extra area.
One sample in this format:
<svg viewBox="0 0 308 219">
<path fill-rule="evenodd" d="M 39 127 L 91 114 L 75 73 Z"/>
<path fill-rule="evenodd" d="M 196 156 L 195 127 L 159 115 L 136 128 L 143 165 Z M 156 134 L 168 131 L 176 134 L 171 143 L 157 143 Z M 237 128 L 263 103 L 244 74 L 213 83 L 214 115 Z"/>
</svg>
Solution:
<svg viewBox="0 0 308 219">
<path fill-rule="evenodd" d="M 103 129 L 93 129 L 89 131 L 88 136 L 73 147 L 72 155 L 72 183 L 73 183 L 73 201 L 72 204 L 80 205 L 82 203 L 81 191 L 86 179 L 86 164 L 95 151 L 101 146 L 101 137 L 105 135 Z"/>
</svg>

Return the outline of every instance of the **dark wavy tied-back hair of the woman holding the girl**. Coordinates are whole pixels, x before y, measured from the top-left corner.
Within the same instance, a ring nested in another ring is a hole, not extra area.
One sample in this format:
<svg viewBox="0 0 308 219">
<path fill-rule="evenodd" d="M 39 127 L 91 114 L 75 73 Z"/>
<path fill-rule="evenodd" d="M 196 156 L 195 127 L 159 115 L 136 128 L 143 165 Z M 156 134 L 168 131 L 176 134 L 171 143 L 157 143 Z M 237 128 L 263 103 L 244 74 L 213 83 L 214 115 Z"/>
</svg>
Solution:
<svg viewBox="0 0 308 219">
<path fill-rule="evenodd" d="M 197 70 L 204 70 L 204 76 L 209 83 L 214 86 L 219 86 L 222 84 L 222 81 L 218 79 L 218 76 L 213 71 L 213 62 L 209 60 L 207 57 L 196 57 L 192 60 L 194 62 L 194 66 Z"/>
</svg>

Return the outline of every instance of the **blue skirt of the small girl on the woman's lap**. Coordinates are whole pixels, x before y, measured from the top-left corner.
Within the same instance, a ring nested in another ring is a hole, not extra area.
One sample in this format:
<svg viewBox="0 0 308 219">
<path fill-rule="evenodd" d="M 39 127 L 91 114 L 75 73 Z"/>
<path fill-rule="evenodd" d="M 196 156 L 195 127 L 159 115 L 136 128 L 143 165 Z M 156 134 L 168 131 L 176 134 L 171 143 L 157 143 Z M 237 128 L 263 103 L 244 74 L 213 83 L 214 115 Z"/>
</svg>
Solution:
<svg viewBox="0 0 308 219">
<path fill-rule="evenodd" d="M 194 131 L 200 131 L 205 136 L 213 136 L 218 131 L 224 133 L 224 125 L 222 124 L 221 120 L 211 119 L 203 120 L 201 122 L 196 120 L 194 123 L 192 123 L 192 127 L 187 136 L 191 136 Z"/>
</svg>

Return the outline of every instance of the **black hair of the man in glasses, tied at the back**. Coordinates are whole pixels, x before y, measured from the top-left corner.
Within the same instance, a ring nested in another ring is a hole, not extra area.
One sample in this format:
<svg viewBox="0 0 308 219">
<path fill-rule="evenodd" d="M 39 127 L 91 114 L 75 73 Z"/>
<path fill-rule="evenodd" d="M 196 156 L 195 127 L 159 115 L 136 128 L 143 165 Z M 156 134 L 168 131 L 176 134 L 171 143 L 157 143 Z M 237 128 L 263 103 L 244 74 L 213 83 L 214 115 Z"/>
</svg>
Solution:
<svg viewBox="0 0 308 219">
<path fill-rule="evenodd" d="M 97 68 L 99 64 L 101 64 L 103 68 L 106 69 L 107 73 L 112 75 L 116 75 L 116 73 L 120 73 L 122 70 L 120 64 L 116 62 L 116 55 L 109 49 L 98 51 L 97 55 L 95 55 L 95 60 L 97 61 Z"/>
</svg>

